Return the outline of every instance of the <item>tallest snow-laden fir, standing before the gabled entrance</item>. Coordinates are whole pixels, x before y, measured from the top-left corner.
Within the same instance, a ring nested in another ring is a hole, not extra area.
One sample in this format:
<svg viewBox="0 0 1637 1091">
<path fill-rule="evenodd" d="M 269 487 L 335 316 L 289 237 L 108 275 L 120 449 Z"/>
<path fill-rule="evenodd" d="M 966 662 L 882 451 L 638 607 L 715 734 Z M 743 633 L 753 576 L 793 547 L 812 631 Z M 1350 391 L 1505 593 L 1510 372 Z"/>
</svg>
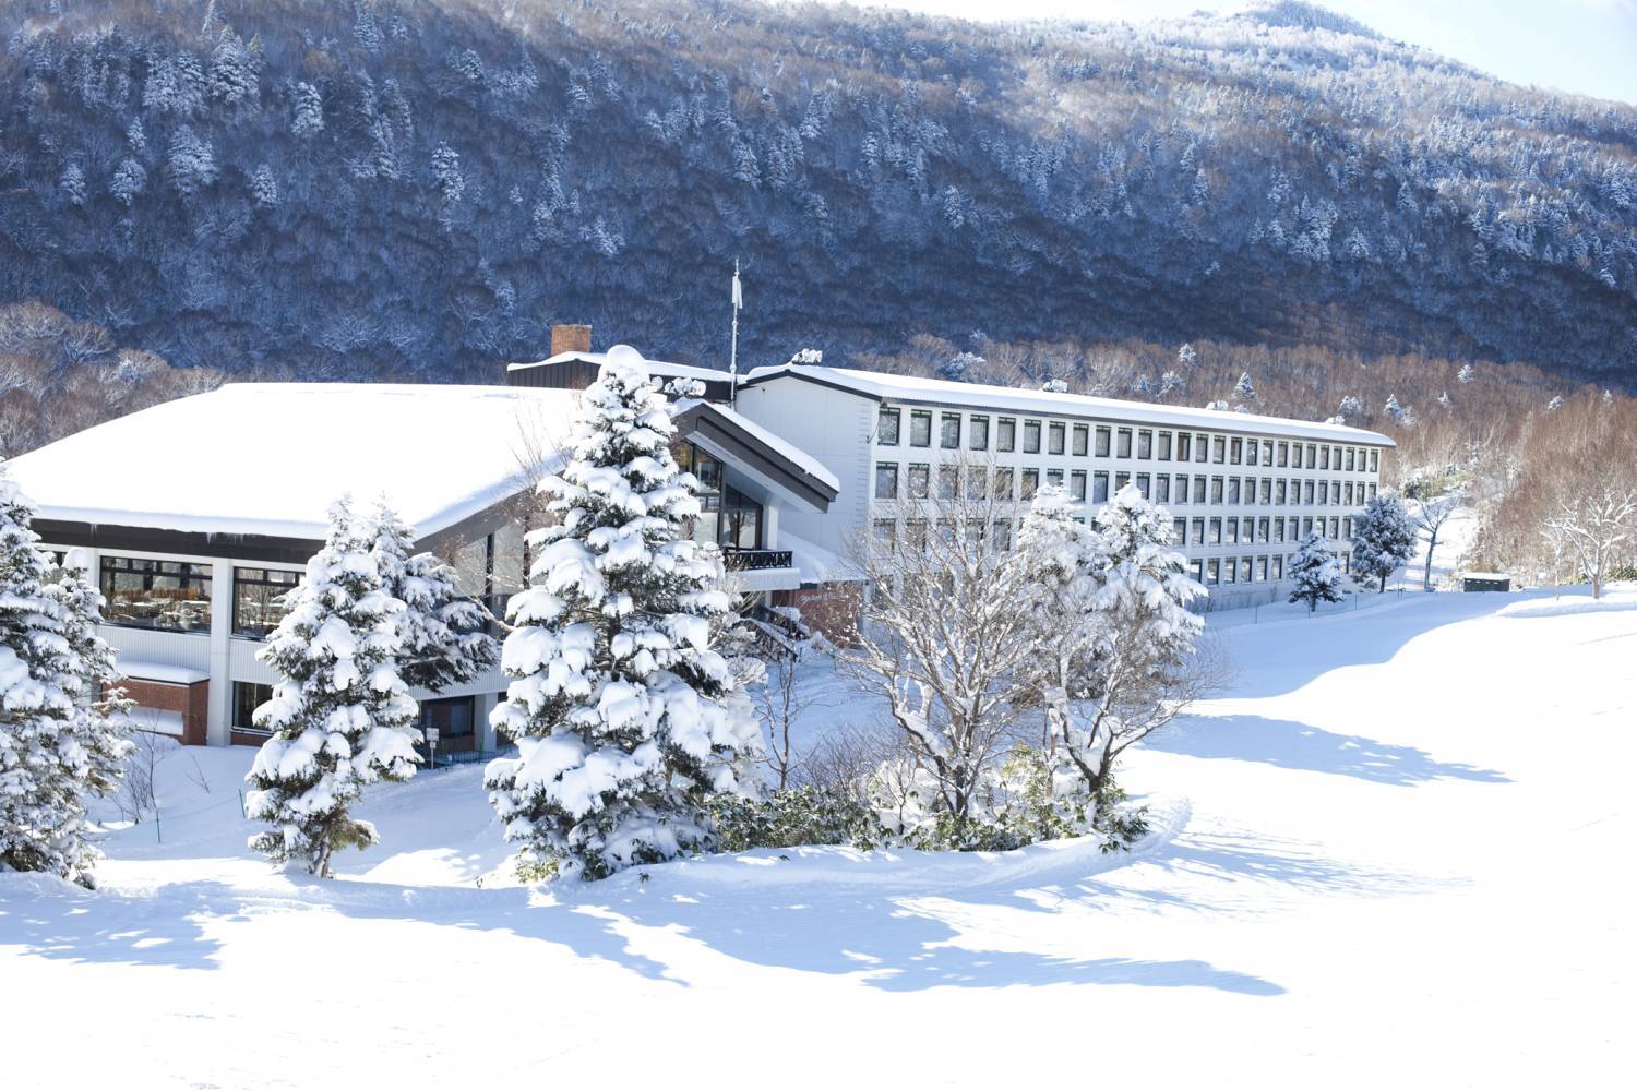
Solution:
<svg viewBox="0 0 1637 1091">
<path fill-rule="evenodd" d="M 688 535 L 697 487 L 671 456 L 670 407 L 629 347 L 581 401 L 561 476 L 540 491 L 530 586 L 512 597 L 494 710 L 517 757 L 488 767 L 507 839 L 560 875 L 599 878 L 709 849 L 714 792 L 748 792 L 761 738 L 710 620 L 715 550 Z"/>
</svg>

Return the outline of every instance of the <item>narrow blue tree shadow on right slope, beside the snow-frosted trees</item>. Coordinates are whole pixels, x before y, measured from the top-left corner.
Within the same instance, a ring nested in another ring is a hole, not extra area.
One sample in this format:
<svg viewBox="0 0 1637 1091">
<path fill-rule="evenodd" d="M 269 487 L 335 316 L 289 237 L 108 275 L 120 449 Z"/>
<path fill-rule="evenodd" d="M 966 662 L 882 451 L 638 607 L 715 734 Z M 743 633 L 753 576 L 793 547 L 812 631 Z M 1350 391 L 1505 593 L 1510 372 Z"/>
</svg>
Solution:
<svg viewBox="0 0 1637 1091">
<path fill-rule="evenodd" d="M 1493 769 L 1437 761 L 1414 746 L 1378 743 L 1362 734 L 1336 734 L 1308 723 L 1267 716 L 1184 716 L 1156 731 L 1144 746 L 1188 757 L 1231 757 L 1393 785 L 1427 780 L 1511 782 L 1511 777 Z"/>
</svg>

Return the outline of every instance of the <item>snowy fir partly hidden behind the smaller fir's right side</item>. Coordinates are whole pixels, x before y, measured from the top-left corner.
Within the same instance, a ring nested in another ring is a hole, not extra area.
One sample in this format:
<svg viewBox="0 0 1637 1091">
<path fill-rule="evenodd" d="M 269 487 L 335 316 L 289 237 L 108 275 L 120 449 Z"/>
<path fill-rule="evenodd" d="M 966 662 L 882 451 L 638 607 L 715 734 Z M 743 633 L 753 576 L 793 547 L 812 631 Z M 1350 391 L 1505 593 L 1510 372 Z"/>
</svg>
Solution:
<svg viewBox="0 0 1637 1091">
<path fill-rule="evenodd" d="M 499 662 L 488 635 L 489 612 L 455 587 L 455 569 L 432 553 L 411 553 L 414 532 L 378 502 L 370 517 L 373 553 L 398 615 L 398 677 L 411 689 L 440 692 Z"/>
</svg>

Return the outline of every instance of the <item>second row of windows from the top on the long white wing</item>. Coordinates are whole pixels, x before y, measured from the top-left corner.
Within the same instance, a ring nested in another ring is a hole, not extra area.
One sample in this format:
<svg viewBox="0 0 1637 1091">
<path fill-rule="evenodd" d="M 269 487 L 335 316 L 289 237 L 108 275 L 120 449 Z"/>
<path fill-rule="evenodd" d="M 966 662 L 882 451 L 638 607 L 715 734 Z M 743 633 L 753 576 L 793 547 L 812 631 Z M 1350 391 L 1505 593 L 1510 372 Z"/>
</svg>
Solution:
<svg viewBox="0 0 1637 1091">
<path fill-rule="evenodd" d="M 1046 469 L 1046 484 L 1064 484 L 1062 469 Z M 963 486 L 964 479 L 964 486 Z M 1115 492 L 1136 483 L 1138 492 L 1156 504 L 1229 504 L 1278 507 L 1285 504 L 1324 505 L 1336 504 L 1346 507 L 1362 507 L 1375 497 L 1375 483 L 1364 481 L 1311 481 L 1297 478 L 1216 478 L 1206 474 L 1148 474 L 1131 471 L 1098 469 L 1087 474 L 1084 469 L 1067 473 L 1069 497 L 1085 501 L 1087 479 L 1090 481 L 1094 504 L 1105 504 L 1110 486 Z M 1030 501 L 1041 484 L 1041 471 L 1030 466 L 1017 469 L 1013 466 L 938 466 L 936 487 L 938 499 L 959 499 L 964 487 L 972 499 L 995 501 Z M 904 474 L 900 492 L 900 474 L 897 463 L 876 463 L 876 499 L 877 501 L 927 501 L 933 492 L 933 468 L 928 463 L 910 463 Z"/>
</svg>

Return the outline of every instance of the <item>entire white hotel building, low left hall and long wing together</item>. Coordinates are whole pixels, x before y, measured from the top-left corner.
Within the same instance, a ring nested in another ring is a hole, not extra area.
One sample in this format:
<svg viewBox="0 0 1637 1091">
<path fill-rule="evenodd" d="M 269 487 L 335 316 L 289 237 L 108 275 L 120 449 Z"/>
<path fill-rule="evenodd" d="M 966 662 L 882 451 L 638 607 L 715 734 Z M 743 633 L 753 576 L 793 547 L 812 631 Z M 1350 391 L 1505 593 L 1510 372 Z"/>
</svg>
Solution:
<svg viewBox="0 0 1637 1091">
<path fill-rule="evenodd" d="M 8 463 L 51 550 L 100 572 L 105 636 L 141 713 L 187 743 L 259 744 L 250 712 L 273 680 L 257 661 L 342 492 L 385 496 L 467 594 L 501 610 L 529 564 L 530 474 L 555 469 L 596 376 L 588 327 L 506 384 L 234 384 L 87 429 Z M 1221 605 L 1283 594 L 1295 541 L 1347 556 L 1375 496 L 1385 435 L 1203 409 L 784 365 L 676 402 L 678 458 L 702 484 L 694 533 L 740 587 L 848 623 L 846 543 L 984 463 L 1017 517 L 1061 483 L 1094 512 L 1136 484 L 1170 509 L 1193 574 Z M 262 437 L 260 442 L 257 437 Z M 525 465 L 532 466 L 525 468 Z M 827 615 L 828 610 L 828 615 Z M 769 620 L 776 620 L 771 618 Z M 422 698 L 444 752 L 496 748 L 498 672 Z"/>
</svg>

